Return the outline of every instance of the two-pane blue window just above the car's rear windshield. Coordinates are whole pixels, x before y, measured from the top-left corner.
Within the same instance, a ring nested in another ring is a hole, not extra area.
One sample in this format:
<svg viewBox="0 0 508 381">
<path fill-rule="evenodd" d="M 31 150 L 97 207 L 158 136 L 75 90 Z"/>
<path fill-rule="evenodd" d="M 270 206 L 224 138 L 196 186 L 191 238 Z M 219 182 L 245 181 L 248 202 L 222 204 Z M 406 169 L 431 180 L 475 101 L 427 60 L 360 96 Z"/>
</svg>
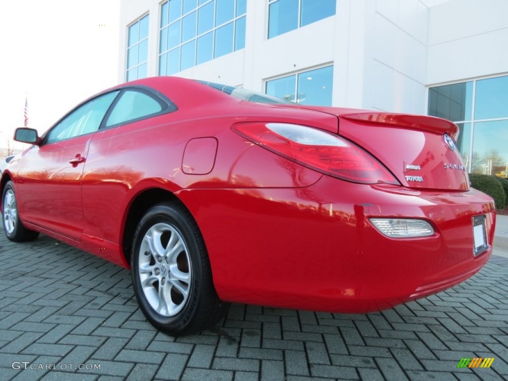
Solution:
<svg viewBox="0 0 508 381">
<path fill-rule="evenodd" d="M 302 105 L 332 105 L 333 66 L 266 82 L 266 93 Z"/>
</svg>

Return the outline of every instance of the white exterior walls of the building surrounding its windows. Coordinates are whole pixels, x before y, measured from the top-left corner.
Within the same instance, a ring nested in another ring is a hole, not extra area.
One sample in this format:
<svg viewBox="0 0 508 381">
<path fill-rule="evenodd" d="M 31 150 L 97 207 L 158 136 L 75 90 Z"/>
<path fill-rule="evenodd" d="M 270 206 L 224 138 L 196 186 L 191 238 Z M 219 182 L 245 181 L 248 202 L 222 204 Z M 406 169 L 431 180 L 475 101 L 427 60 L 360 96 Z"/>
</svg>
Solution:
<svg viewBox="0 0 508 381">
<path fill-rule="evenodd" d="M 160 1 L 122 0 L 119 82 L 128 25 L 146 13 L 157 75 Z M 245 48 L 178 75 L 263 91 L 333 63 L 334 106 L 426 114 L 429 85 L 508 72 L 506 14 L 506 0 L 337 0 L 335 16 L 268 39 L 268 1 L 247 0 Z"/>
</svg>

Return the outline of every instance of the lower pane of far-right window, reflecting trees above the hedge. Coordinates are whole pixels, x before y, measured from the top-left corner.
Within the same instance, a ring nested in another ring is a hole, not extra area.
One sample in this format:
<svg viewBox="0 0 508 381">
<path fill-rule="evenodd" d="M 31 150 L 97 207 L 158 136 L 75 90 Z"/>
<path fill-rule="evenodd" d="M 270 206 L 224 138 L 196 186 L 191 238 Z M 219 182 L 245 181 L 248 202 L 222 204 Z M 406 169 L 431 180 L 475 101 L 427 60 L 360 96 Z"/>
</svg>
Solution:
<svg viewBox="0 0 508 381">
<path fill-rule="evenodd" d="M 474 123 L 473 173 L 502 175 L 508 165 L 508 120 Z"/>
</svg>

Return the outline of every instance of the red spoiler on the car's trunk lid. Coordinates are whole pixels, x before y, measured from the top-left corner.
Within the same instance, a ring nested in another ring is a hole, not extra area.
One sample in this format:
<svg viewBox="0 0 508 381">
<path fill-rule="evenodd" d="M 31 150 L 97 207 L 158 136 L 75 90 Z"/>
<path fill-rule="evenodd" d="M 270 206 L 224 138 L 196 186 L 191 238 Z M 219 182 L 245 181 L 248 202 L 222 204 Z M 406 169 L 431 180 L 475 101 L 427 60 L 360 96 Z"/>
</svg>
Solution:
<svg viewBox="0 0 508 381">
<path fill-rule="evenodd" d="M 455 123 L 433 116 L 389 114 L 384 112 L 360 112 L 339 115 L 339 118 L 361 123 L 393 125 L 409 130 L 425 131 L 434 134 L 448 134 L 455 139 L 457 138 L 459 132 L 459 128 Z"/>
</svg>

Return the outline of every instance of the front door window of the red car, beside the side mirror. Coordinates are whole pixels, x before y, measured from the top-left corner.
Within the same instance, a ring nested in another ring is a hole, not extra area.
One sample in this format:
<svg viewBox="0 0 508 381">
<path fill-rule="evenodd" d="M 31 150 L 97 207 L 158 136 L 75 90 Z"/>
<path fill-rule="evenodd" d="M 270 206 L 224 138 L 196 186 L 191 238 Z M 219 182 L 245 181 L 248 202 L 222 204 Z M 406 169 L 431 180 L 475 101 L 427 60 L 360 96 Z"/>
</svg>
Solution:
<svg viewBox="0 0 508 381">
<path fill-rule="evenodd" d="M 99 130 L 104 115 L 119 92 L 108 92 L 78 107 L 48 132 L 45 143 L 55 143 Z"/>
</svg>

